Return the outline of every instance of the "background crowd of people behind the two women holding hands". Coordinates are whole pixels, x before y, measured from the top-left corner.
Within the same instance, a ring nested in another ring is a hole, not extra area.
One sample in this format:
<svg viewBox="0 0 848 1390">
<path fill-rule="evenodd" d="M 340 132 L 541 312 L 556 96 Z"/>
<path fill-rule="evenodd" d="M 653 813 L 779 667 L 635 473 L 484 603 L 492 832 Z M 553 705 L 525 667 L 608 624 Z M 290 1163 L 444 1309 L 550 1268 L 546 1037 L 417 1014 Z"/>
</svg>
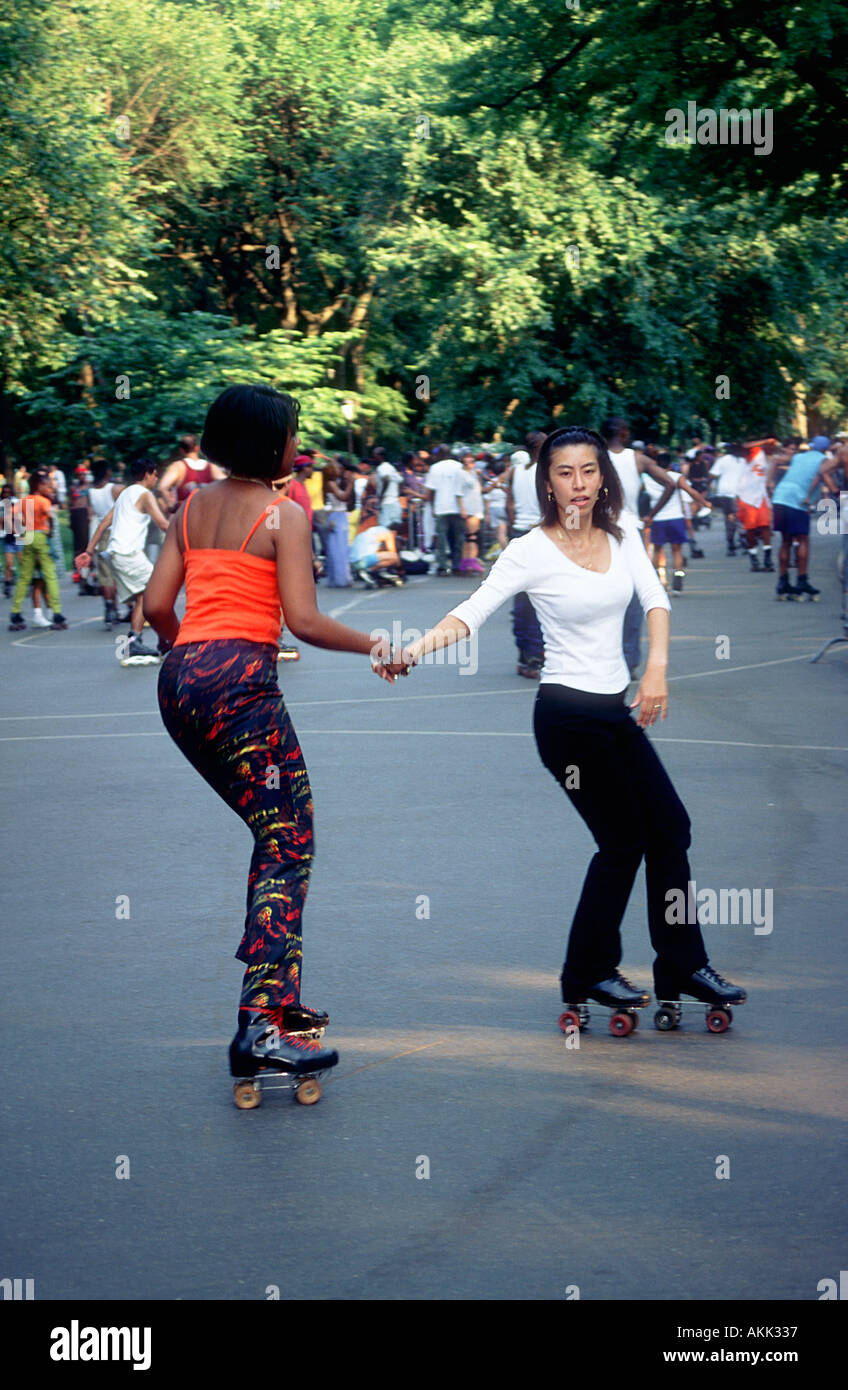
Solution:
<svg viewBox="0 0 848 1390">
<path fill-rule="evenodd" d="M 752 573 L 776 573 L 778 599 L 819 596 L 808 573 L 810 513 L 822 496 L 838 507 L 845 492 L 845 434 L 833 441 L 813 435 L 720 443 L 694 435 L 688 446 L 666 448 L 631 442 L 623 418 L 606 420 L 601 434 L 621 481 L 624 509 L 637 518 L 664 588 L 683 591 L 687 563 L 703 557 L 696 532 L 720 512 L 727 556 L 747 555 Z M 541 430 L 530 431 L 524 443 L 499 452 L 435 445 L 395 460 L 382 446 L 361 460 L 302 449 L 281 491 L 307 514 L 316 580 L 328 588 L 375 588 L 402 585 L 409 574 L 485 574 L 512 539 L 539 523 L 535 468 L 545 438 Z M 17 468 L 0 502 L 10 630 L 25 630 L 28 595 L 33 627 L 67 626 L 57 582 L 63 567 L 57 512 L 67 510 L 74 581 L 81 592 L 101 596 L 107 628 L 129 624 L 124 664 L 156 662 L 158 653 L 143 639 L 142 595 L 163 534 L 193 491 L 225 475 L 202 456 L 196 435 L 184 435 L 164 464 L 135 460 L 121 480 L 103 461 L 78 466 L 70 480 L 56 464 L 32 473 Z M 777 566 L 773 532 L 780 537 Z M 624 623 L 631 674 L 639 664 L 641 627 L 634 600 Z M 513 602 L 513 634 L 517 673 L 538 680 L 544 642 L 524 594 Z M 282 659 L 299 656 L 285 634 L 279 649 Z"/>
</svg>

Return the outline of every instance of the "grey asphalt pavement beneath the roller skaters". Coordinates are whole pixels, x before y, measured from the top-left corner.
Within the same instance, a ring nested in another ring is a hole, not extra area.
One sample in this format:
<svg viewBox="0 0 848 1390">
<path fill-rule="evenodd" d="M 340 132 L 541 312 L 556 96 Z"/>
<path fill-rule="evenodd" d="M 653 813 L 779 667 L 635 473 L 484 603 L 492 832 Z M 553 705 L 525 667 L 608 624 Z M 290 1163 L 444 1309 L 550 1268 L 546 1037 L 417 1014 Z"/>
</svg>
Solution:
<svg viewBox="0 0 848 1390">
<path fill-rule="evenodd" d="M 122 669 L 67 580 L 67 632 L 0 635 L 1 1275 L 83 1300 L 815 1300 L 838 1277 L 848 646 L 809 662 L 841 631 L 838 542 L 813 538 L 799 605 L 701 537 L 652 737 L 698 888 L 772 890 L 770 931 L 705 930 L 749 991 L 731 1029 L 559 1031 L 592 842 L 538 759 L 509 607 L 474 674 L 391 688 L 302 644 L 279 680 L 316 798 L 303 997 L 341 1054 L 309 1108 L 234 1106 L 250 837 L 164 734 L 157 669 Z M 473 588 L 320 603 L 424 630 Z M 651 986 L 642 873 L 623 935 Z"/>
</svg>

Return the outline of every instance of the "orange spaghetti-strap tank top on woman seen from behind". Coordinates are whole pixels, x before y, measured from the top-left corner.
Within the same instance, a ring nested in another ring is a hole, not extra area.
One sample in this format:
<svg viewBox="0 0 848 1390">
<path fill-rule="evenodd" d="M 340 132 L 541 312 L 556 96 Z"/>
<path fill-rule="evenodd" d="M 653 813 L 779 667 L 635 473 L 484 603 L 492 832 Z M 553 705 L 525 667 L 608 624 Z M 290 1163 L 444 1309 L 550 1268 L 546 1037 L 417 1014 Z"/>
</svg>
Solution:
<svg viewBox="0 0 848 1390">
<path fill-rule="evenodd" d="M 182 512 L 185 617 L 174 646 L 240 637 L 249 642 L 279 642 L 282 631 L 277 564 L 245 546 L 260 521 L 284 500 L 278 498 L 257 516 L 238 550 L 192 549 L 188 538 L 192 492 Z"/>
</svg>

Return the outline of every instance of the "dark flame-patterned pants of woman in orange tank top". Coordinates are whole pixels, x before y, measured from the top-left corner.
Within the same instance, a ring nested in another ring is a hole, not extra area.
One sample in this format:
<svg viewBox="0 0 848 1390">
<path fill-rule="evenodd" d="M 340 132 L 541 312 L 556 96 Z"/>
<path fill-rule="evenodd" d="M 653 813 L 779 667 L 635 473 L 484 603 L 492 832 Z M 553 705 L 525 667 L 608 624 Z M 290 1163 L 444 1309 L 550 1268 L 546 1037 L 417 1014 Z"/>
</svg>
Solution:
<svg viewBox="0 0 848 1390">
<path fill-rule="evenodd" d="M 168 734 L 253 834 L 242 1011 L 300 1002 L 300 916 L 313 865 L 313 799 L 277 684 L 277 646 L 227 638 L 172 648 L 158 674 Z"/>
</svg>

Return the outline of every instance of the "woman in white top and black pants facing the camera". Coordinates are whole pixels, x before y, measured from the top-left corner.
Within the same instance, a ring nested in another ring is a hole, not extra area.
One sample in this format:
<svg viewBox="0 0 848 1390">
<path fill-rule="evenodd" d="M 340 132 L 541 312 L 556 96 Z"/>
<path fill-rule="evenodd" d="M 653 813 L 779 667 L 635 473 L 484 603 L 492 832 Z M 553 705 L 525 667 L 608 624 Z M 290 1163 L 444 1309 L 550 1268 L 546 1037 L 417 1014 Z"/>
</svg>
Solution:
<svg viewBox="0 0 848 1390">
<path fill-rule="evenodd" d="M 571 923 L 564 1002 L 595 999 L 613 1009 L 648 1002 L 617 969 L 621 917 L 644 858 L 658 998 L 741 1004 L 745 991 L 708 963 L 696 913 L 680 923 L 669 912 L 670 902 L 691 899 L 690 819 L 644 733 L 669 708 L 669 599 L 635 523 L 621 514 L 621 486 L 601 435 L 582 427 L 549 435 L 537 491 L 541 523 L 507 545 L 475 594 L 407 648 L 398 669 L 477 632 L 513 594 L 528 594 L 545 637 L 538 751 L 598 844 Z M 634 592 L 648 620 L 649 655 L 627 706 L 621 623 Z M 567 874 L 559 848 L 553 874 Z"/>
</svg>

